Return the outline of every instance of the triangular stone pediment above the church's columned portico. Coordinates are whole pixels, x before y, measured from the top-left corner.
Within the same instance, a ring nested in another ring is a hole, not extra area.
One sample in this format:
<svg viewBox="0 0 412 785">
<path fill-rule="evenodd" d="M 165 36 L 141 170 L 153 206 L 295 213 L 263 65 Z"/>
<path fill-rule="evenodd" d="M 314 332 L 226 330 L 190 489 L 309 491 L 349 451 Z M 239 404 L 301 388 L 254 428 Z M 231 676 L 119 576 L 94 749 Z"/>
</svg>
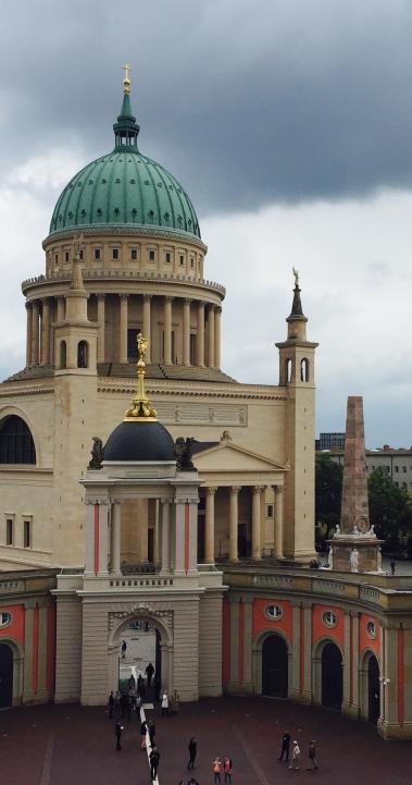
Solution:
<svg viewBox="0 0 412 785">
<path fill-rule="evenodd" d="M 288 468 L 229 441 L 196 453 L 192 461 L 199 471 L 285 471 Z"/>
</svg>

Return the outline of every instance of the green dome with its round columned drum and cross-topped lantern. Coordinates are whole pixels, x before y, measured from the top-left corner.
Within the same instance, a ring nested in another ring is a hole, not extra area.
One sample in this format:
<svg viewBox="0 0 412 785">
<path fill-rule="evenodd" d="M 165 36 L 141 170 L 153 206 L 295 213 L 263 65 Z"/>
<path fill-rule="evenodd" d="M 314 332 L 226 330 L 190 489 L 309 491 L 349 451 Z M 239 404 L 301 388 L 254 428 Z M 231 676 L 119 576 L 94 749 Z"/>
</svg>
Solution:
<svg viewBox="0 0 412 785">
<path fill-rule="evenodd" d="M 125 69 L 114 149 L 64 188 L 43 242 L 46 273 L 22 284 L 26 368 L 14 378 L 50 375 L 59 366 L 54 331 L 66 316 L 74 236 L 82 232 L 99 375 L 132 376 L 142 331 L 149 340 L 149 377 L 232 381 L 221 371 L 225 290 L 203 277 L 207 246 L 189 196 L 173 174 L 139 151 L 140 126 Z"/>
</svg>

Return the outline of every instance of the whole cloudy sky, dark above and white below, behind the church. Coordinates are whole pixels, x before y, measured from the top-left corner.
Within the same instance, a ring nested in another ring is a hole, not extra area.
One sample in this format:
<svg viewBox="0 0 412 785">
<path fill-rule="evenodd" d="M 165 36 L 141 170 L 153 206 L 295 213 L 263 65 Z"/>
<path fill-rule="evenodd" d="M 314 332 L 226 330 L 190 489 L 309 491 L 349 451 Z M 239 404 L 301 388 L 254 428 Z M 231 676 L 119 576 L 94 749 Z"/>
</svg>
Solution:
<svg viewBox="0 0 412 785">
<path fill-rule="evenodd" d="M 317 430 L 365 401 L 412 444 L 412 3 L 2 0 L 0 375 L 24 366 L 20 283 L 67 180 L 112 146 L 133 64 L 140 149 L 189 192 L 224 283 L 223 361 L 277 383 L 291 267 L 320 342 Z"/>
</svg>

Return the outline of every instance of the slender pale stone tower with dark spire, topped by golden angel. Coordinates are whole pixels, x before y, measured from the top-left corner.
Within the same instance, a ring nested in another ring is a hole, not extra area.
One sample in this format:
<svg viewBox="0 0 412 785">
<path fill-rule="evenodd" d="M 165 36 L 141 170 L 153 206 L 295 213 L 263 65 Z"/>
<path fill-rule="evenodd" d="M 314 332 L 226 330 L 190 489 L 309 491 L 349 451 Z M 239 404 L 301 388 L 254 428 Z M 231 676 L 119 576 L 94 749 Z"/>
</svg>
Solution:
<svg viewBox="0 0 412 785">
<path fill-rule="evenodd" d="M 308 341 L 308 319 L 302 310 L 299 274 L 295 289 L 287 340 L 279 349 L 279 385 L 286 390 L 285 455 L 290 465 L 285 487 L 285 559 L 308 563 L 314 550 L 314 356 L 319 345 Z"/>
</svg>

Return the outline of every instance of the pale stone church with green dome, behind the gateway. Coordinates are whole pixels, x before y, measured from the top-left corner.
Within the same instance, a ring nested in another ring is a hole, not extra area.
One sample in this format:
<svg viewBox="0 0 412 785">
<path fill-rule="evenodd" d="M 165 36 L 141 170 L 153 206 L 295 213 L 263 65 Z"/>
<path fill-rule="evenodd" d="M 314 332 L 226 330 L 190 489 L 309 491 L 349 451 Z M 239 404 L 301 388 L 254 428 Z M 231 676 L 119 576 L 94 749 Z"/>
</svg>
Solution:
<svg viewBox="0 0 412 785">
<path fill-rule="evenodd" d="M 199 559 L 308 563 L 316 344 L 305 335 L 299 285 L 287 340 L 277 344 L 279 384 L 227 377 L 225 291 L 204 278 L 207 246 L 189 197 L 139 152 L 128 79 L 114 132 L 113 151 L 64 188 L 43 242 L 46 271 L 23 283 L 26 367 L 0 387 L 0 559 L 84 564 L 79 479 L 92 437 L 107 440 L 133 394 L 141 330 L 159 419 L 174 438 L 209 443 L 196 458 Z M 275 366 L 274 356 L 274 381 Z M 153 507 L 148 536 L 127 557 L 157 562 L 157 525 Z"/>
</svg>

